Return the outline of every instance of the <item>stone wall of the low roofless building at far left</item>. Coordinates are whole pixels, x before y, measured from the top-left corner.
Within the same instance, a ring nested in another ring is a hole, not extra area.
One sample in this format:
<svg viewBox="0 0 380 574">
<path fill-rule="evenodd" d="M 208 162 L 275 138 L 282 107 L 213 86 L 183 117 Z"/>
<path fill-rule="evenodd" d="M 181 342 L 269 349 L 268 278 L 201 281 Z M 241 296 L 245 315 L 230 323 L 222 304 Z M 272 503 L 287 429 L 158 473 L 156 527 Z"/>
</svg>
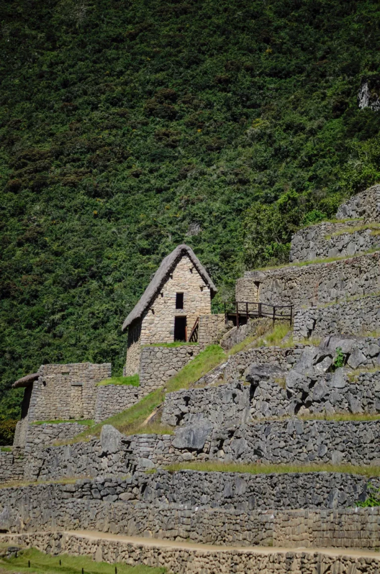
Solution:
<svg viewBox="0 0 380 574">
<path fill-rule="evenodd" d="M 44 364 L 39 372 L 41 376 L 33 383 L 29 422 L 94 418 L 95 384 L 111 377 L 111 363 Z"/>
</svg>

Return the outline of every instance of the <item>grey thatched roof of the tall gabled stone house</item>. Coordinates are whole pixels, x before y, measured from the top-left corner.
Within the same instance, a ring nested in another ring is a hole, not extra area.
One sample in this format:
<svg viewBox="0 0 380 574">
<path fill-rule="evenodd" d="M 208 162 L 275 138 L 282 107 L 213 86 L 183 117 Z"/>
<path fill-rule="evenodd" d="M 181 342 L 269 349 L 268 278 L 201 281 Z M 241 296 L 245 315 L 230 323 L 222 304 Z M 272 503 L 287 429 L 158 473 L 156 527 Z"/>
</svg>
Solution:
<svg viewBox="0 0 380 574">
<path fill-rule="evenodd" d="M 145 289 L 144 294 L 142 294 L 141 299 L 135 305 L 134 309 L 129 313 L 126 320 L 123 323 L 122 330 L 124 331 L 133 321 L 136 319 L 140 319 L 142 314 L 144 313 L 145 309 L 149 307 L 150 302 L 154 299 L 158 292 L 160 292 L 162 285 L 168 279 L 169 273 L 175 267 L 177 262 L 183 257 L 187 255 L 187 257 L 191 260 L 194 267 L 196 268 L 197 272 L 200 274 L 201 278 L 210 287 L 211 297 L 214 297 L 217 289 L 214 283 L 211 281 L 211 278 L 207 271 L 204 269 L 203 265 L 195 255 L 194 251 L 188 245 L 179 245 L 176 247 L 175 250 L 172 251 L 169 255 L 162 259 L 162 263 L 160 267 L 158 267 L 156 273 L 154 273 L 154 277 L 152 281 L 150 281 L 148 287 Z"/>
</svg>

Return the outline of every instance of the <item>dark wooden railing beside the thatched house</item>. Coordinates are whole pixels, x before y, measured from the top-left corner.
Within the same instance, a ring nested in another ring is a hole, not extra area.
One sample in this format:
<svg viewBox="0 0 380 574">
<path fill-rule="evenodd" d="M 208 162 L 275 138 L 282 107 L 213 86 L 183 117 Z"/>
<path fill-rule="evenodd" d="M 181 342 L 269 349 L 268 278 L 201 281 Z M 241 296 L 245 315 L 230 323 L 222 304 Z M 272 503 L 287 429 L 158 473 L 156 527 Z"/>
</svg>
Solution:
<svg viewBox="0 0 380 574">
<path fill-rule="evenodd" d="M 224 303 L 224 317 L 226 323 L 228 319 L 235 318 L 236 327 L 239 328 L 239 319 L 258 319 L 259 317 L 270 317 L 274 321 L 293 321 L 293 305 L 272 305 L 270 303 L 259 303 L 257 301 L 232 301 Z"/>
</svg>

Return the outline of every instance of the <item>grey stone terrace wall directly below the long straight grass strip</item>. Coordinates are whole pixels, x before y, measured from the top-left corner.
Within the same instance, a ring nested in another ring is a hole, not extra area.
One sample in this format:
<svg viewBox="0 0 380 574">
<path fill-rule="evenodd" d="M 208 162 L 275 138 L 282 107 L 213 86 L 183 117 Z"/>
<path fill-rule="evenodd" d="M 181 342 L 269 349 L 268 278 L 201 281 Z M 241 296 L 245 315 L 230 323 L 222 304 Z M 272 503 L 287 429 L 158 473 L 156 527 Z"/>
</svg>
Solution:
<svg viewBox="0 0 380 574">
<path fill-rule="evenodd" d="M 13 525 L 8 530 L 20 532 L 45 526 L 36 524 L 44 504 L 46 510 L 56 504 L 60 514 L 69 499 L 103 502 L 144 502 L 160 509 L 169 503 L 182 506 L 211 506 L 242 512 L 252 510 L 336 509 L 355 506 L 364 501 L 371 484 L 379 486 L 377 478 L 340 472 L 278 472 L 250 474 L 244 472 L 197 472 L 183 470 L 154 474 L 135 473 L 131 476 L 96 476 L 78 479 L 75 484 L 31 484 L 0 488 L 0 529 L 2 511 L 13 511 Z M 38 510 L 24 514 L 17 523 L 17 514 L 26 507 Z M 61 523 L 61 526 L 64 526 Z"/>
</svg>

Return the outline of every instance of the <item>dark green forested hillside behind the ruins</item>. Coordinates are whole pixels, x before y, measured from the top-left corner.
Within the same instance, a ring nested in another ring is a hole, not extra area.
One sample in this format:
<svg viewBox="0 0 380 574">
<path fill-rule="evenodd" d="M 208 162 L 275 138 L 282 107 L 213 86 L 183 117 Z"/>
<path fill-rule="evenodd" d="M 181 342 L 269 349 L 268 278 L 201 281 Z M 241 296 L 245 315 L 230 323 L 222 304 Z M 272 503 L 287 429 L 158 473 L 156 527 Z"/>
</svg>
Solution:
<svg viewBox="0 0 380 574">
<path fill-rule="evenodd" d="M 357 99 L 380 86 L 375 0 L 5 0 L 0 20 L 0 418 L 41 363 L 119 373 L 178 243 L 218 303 L 380 177 Z"/>
</svg>

